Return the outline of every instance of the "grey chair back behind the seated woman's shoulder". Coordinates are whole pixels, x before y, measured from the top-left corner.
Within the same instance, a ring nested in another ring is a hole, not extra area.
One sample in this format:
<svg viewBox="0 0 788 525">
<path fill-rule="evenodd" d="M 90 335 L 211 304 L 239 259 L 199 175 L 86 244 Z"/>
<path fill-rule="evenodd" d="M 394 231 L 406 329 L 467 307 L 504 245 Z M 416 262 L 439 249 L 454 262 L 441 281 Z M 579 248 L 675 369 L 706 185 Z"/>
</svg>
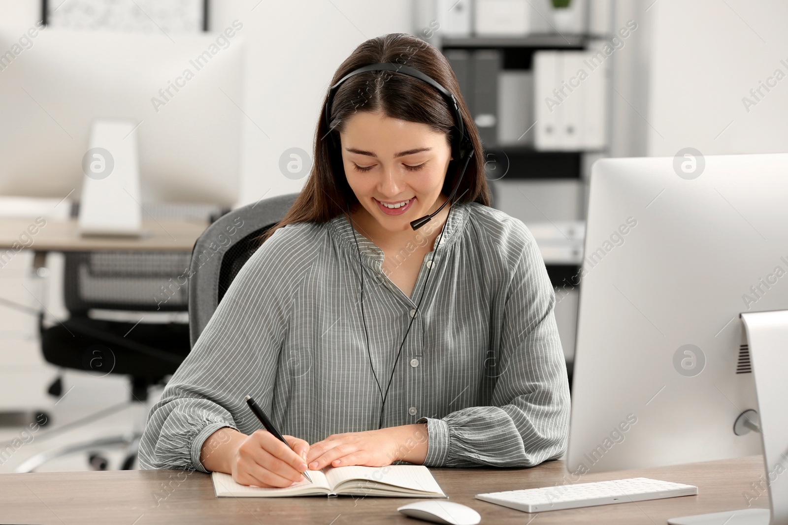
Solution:
<svg viewBox="0 0 788 525">
<path fill-rule="evenodd" d="M 298 194 L 257 201 L 214 221 L 195 243 L 189 267 L 189 332 L 195 345 L 232 279 L 260 246 L 258 237 L 288 213 Z"/>
</svg>

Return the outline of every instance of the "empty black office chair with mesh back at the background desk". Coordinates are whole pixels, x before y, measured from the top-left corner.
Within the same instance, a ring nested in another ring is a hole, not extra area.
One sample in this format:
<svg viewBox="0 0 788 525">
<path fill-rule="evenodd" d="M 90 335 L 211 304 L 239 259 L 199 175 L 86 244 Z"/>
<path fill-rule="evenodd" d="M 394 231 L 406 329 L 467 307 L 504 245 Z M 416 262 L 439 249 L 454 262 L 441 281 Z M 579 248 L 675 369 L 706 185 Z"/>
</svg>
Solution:
<svg viewBox="0 0 788 525">
<path fill-rule="evenodd" d="M 206 220 L 207 224 L 226 210 L 206 205 L 147 205 L 146 211 L 156 218 Z M 75 207 L 72 215 L 76 213 Z M 44 359 L 58 367 L 98 377 L 128 375 L 129 400 L 125 407 L 144 412 L 148 390 L 164 383 L 191 349 L 185 322 L 188 288 L 181 277 L 187 272 L 191 256 L 168 252 L 84 252 L 65 253 L 64 258 L 63 293 L 69 319 L 46 327 L 43 312 L 39 314 Z M 136 312 L 139 320 L 129 319 Z M 159 322 L 146 321 L 146 312 L 150 312 L 149 320 L 159 316 Z M 171 319 L 162 320 L 162 314 L 153 312 L 169 312 Z M 182 320 L 177 322 L 179 316 Z M 62 383 L 59 374 L 49 393 L 60 397 Z M 46 450 L 28 458 L 16 471 L 30 472 L 56 457 L 111 446 L 125 446 L 121 468 L 131 469 L 142 436 L 143 417 L 139 418 L 139 428 L 133 431 Z M 84 421 L 95 419 L 99 415 L 88 416 Z M 100 453 L 91 453 L 89 460 L 95 470 L 106 470 L 108 466 Z"/>
</svg>

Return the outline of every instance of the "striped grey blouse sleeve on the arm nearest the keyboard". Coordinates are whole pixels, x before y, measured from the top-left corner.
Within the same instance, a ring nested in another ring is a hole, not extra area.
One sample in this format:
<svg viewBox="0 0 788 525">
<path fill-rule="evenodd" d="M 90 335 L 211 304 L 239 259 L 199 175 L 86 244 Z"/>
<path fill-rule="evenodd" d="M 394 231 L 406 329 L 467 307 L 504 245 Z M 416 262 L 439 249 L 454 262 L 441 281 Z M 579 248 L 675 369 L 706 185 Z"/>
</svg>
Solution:
<svg viewBox="0 0 788 525">
<path fill-rule="evenodd" d="M 505 302 L 492 406 L 419 419 L 427 423 L 427 466 L 530 467 L 567 448 L 569 383 L 556 295 L 530 232 L 526 238 Z"/>
</svg>

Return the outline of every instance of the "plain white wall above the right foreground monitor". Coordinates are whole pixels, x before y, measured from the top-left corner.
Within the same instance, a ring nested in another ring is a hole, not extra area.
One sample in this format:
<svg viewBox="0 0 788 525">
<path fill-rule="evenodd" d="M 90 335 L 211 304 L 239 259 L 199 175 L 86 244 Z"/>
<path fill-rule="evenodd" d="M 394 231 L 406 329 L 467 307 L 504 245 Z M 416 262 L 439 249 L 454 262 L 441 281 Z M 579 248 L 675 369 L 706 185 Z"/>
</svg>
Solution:
<svg viewBox="0 0 788 525">
<path fill-rule="evenodd" d="M 788 2 L 660 0 L 649 14 L 649 155 L 788 151 Z M 748 112 L 742 98 L 778 68 Z"/>
</svg>

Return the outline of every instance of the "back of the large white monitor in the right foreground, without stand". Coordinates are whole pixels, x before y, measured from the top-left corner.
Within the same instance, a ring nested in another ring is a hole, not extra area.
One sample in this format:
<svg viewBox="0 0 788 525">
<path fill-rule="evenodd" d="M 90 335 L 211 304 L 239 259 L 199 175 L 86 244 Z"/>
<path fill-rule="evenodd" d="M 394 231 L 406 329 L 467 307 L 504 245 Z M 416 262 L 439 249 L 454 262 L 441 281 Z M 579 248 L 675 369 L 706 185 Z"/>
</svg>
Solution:
<svg viewBox="0 0 788 525">
<path fill-rule="evenodd" d="M 597 161 L 581 273 L 568 471 L 762 452 L 740 313 L 788 309 L 788 154 Z"/>
</svg>

